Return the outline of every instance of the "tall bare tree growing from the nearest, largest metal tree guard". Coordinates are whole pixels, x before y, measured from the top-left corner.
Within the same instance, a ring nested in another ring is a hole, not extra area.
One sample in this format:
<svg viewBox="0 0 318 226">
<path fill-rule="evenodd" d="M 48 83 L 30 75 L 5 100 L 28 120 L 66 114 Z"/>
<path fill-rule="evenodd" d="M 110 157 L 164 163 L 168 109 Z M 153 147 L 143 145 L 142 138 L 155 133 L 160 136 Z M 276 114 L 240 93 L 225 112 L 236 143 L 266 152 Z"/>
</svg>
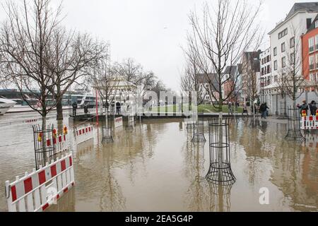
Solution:
<svg viewBox="0 0 318 226">
<path fill-rule="evenodd" d="M 247 1 L 218 0 L 215 7 L 204 4 L 202 18 L 196 12 L 189 16 L 192 33 L 187 36 L 187 41 L 194 49 L 196 66 L 211 86 L 211 99 L 218 100 L 220 112 L 223 101 L 234 91 L 223 97 L 222 86 L 232 81 L 235 87 L 238 81 L 231 73 L 225 78 L 225 67 L 239 63 L 243 52 L 258 49 L 264 37 L 257 20 L 260 7 L 261 3 L 254 7 Z M 215 73 L 216 78 L 211 78 L 211 73 Z"/>
</svg>

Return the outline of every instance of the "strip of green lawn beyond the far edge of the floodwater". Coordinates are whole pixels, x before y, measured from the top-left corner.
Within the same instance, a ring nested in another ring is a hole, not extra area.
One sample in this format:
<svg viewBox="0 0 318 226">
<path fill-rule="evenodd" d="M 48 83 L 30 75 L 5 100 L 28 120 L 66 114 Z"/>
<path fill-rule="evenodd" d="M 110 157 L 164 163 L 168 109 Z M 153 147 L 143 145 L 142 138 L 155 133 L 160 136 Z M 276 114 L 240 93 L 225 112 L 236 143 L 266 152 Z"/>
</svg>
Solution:
<svg viewBox="0 0 318 226">
<path fill-rule="evenodd" d="M 238 113 L 242 114 L 243 108 L 238 107 Z M 157 113 L 157 112 L 179 112 L 179 106 L 171 105 L 168 107 L 153 107 L 150 112 Z M 181 111 L 180 111 L 181 112 Z M 199 105 L 198 106 L 198 113 L 215 113 L 218 112 L 218 108 L 213 107 L 213 105 Z M 223 113 L 228 113 L 228 105 L 223 106 Z"/>
</svg>

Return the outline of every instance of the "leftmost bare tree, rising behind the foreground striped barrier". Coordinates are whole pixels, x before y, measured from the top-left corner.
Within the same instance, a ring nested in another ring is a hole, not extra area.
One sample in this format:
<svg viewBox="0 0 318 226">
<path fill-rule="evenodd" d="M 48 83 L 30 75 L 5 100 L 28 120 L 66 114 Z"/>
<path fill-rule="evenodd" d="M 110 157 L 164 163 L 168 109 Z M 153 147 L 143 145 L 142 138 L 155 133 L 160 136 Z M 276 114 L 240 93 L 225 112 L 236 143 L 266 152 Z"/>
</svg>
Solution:
<svg viewBox="0 0 318 226">
<path fill-rule="evenodd" d="M 42 116 L 42 129 L 46 129 L 47 114 L 55 107 L 52 90 L 56 85 L 54 75 L 47 66 L 49 44 L 54 29 L 60 22 L 61 5 L 53 10 L 50 0 L 8 1 L 5 10 L 8 17 L 1 24 L 1 65 L 7 79 L 20 90 L 21 97 Z M 33 106 L 23 90 L 28 90 L 38 102 Z"/>
</svg>

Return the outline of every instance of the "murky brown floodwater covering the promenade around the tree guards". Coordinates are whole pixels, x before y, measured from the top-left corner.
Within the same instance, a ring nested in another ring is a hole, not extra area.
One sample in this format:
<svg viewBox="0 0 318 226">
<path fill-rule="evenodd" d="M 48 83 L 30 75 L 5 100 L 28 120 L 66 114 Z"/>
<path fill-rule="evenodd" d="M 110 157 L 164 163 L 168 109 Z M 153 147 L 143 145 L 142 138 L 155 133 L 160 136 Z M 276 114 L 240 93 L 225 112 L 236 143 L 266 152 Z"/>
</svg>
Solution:
<svg viewBox="0 0 318 226">
<path fill-rule="evenodd" d="M 68 120 L 64 121 L 68 125 Z M 318 134 L 305 143 L 283 140 L 287 124 L 231 121 L 232 186 L 204 179 L 206 143 L 191 142 L 182 120 L 152 119 L 114 131 L 114 143 L 94 139 L 73 149 L 76 186 L 49 211 L 317 211 Z M 71 127 L 71 125 L 70 125 Z M 73 135 L 70 131 L 69 136 Z M 34 167 L 30 124 L 4 126 L 0 136 L 0 210 L 6 210 L 4 182 Z M 259 189 L 269 189 L 269 205 Z"/>
</svg>

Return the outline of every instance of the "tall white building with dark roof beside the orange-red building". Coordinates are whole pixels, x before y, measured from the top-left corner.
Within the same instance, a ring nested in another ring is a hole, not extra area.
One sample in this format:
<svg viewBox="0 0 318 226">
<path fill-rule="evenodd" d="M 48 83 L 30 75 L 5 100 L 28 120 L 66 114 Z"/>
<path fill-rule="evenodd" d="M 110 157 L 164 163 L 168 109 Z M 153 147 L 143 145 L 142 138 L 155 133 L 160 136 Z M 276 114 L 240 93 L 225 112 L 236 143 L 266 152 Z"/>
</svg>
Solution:
<svg viewBox="0 0 318 226">
<path fill-rule="evenodd" d="M 266 86 L 264 86 L 264 98 L 269 103 L 272 114 L 282 113 L 282 102 L 285 102 L 285 107 L 292 105 L 290 100 L 283 100 L 288 97 L 282 97 L 279 89 L 279 79 L 283 76 L 283 69 L 285 69 L 288 62 L 292 59 L 291 54 L 296 53 L 296 59 L 300 60 L 302 64 L 302 35 L 307 32 L 307 29 L 312 24 L 312 21 L 317 16 L 318 3 L 296 3 L 288 13 L 288 16 L 276 24 L 276 28 L 269 32 L 270 35 L 270 69 L 271 74 L 262 76 L 266 77 Z M 293 47 L 295 51 L 292 52 Z M 267 52 L 265 54 L 268 54 Z M 265 55 L 264 55 L 265 57 Z M 267 55 L 266 55 L 267 57 Z M 263 65 L 261 65 L 263 66 Z M 264 67 L 268 66 L 268 62 Z M 267 71 L 266 71 L 267 72 Z M 302 76 L 302 69 L 298 71 L 299 76 Z M 307 94 L 303 94 L 299 99 L 304 100 Z M 301 100 L 298 100 L 298 102 Z M 287 102 L 287 104 L 286 104 Z"/>
</svg>

